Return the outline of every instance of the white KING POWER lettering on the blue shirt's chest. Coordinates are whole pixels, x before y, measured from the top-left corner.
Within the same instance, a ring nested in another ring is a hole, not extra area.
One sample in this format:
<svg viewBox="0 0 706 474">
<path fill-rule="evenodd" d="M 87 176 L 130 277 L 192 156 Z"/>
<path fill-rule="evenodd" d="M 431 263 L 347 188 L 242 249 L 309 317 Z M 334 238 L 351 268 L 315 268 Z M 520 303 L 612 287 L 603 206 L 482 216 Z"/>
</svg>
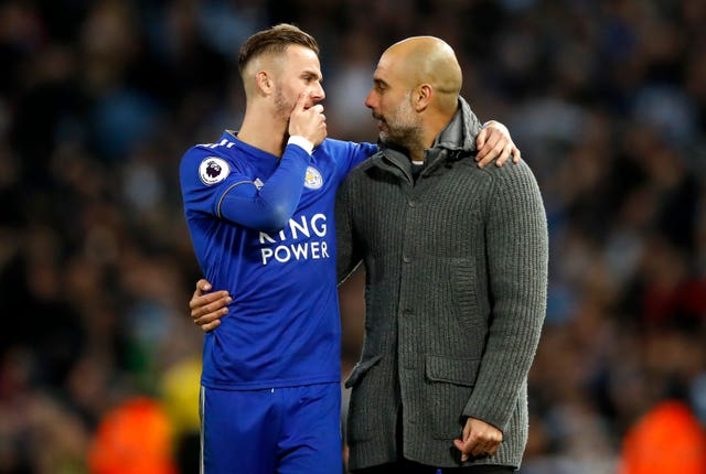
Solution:
<svg viewBox="0 0 706 474">
<path fill-rule="evenodd" d="M 325 241 L 327 231 L 325 214 L 292 217 L 277 234 L 260 231 L 261 262 L 287 263 L 291 260 L 331 258 Z"/>
</svg>

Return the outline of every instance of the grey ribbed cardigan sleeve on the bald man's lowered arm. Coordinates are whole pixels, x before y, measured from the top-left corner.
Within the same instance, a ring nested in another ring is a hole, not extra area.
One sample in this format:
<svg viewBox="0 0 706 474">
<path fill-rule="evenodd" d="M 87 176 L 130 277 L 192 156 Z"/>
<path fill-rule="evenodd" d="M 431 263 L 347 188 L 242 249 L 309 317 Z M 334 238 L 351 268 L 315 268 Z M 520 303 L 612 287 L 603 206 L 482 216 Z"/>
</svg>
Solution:
<svg viewBox="0 0 706 474">
<path fill-rule="evenodd" d="M 534 177 L 513 174 L 488 215 L 491 325 L 463 414 L 505 428 L 526 383 L 546 313 L 548 237 Z"/>
</svg>

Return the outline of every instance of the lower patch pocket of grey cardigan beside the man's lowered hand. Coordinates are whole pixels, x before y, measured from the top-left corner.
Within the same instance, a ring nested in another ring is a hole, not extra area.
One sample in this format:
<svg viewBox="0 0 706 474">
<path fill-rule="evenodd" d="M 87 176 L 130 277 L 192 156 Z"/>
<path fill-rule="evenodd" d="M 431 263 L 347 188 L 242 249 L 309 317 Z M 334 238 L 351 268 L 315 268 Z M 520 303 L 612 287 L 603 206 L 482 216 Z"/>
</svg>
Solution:
<svg viewBox="0 0 706 474">
<path fill-rule="evenodd" d="M 453 440 L 461 435 L 462 416 L 471 397 L 480 366 L 479 359 L 459 359 L 437 355 L 426 357 L 426 397 L 424 410 L 429 417 L 431 435 Z"/>
</svg>

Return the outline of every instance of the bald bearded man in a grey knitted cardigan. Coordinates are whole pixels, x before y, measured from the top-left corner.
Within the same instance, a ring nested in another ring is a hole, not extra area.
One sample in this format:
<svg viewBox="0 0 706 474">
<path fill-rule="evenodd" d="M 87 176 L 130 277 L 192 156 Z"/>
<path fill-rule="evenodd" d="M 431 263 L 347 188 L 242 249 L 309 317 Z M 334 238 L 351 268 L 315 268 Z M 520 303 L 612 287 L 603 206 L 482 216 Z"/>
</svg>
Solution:
<svg viewBox="0 0 706 474">
<path fill-rule="evenodd" d="M 509 473 L 546 310 L 547 227 L 526 163 L 474 165 L 481 130 L 453 50 L 387 49 L 365 105 L 381 149 L 339 190 L 339 274 L 365 266 L 346 386 L 355 473 Z"/>
</svg>

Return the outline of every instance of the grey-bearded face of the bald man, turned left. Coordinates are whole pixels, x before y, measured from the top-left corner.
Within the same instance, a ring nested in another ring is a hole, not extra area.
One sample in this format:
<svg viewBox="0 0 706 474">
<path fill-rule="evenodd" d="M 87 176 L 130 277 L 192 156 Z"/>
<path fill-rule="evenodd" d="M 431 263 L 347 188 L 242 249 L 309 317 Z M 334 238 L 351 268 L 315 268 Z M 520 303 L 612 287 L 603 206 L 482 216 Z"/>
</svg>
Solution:
<svg viewBox="0 0 706 474">
<path fill-rule="evenodd" d="M 377 120 L 383 143 L 409 148 L 421 136 L 421 125 L 411 106 L 411 89 L 398 69 L 393 58 L 381 57 L 365 106 Z"/>
</svg>

